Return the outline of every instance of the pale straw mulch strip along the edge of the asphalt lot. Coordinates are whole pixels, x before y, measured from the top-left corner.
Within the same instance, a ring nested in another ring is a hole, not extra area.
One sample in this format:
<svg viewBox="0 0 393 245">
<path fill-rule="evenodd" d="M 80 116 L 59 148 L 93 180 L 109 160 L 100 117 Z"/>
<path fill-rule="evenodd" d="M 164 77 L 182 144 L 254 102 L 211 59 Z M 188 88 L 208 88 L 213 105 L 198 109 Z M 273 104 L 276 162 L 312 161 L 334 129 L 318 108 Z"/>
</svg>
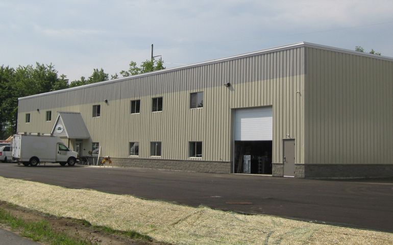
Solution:
<svg viewBox="0 0 393 245">
<path fill-rule="evenodd" d="M 0 199 L 174 244 L 393 244 L 393 234 L 0 177 Z"/>
</svg>

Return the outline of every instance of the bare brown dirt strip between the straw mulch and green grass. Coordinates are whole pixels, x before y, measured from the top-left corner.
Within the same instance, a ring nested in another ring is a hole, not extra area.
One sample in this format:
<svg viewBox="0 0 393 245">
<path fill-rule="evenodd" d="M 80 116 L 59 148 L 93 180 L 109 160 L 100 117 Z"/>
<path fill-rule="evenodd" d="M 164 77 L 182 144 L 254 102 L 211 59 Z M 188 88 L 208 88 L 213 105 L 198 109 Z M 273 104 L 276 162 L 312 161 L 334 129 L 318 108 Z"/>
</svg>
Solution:
<svg viewBox="0 0 393 245">
<path fill-rule="evenodd" d="M 95 229 L 93 226 L 86 225 L 82 220 L 57 217 L 50 214 L 45 214 L 35 210 L 23 208 L 17 205 L 12 205 L 7 202 L 0 201 L 0 208 L 9 211 L 12 215 L 21 218 L 27 222 L 38 222 L 39 220 L 46 220 L 51 224 L 55 231 L 66 233 L 68 236 L 76 237 L 82 240 L 90 241 L 96 244 L 110 244 L 110 245 L 168 245 L 168 243 L 160 243 L 157 241 L 144 241 L 135 240 L 129 237 L 118 235 L 118 234 L 108 234 L 99 229 Z M 18 231 L 13 231 L 4 224 L 0 224 L 0 227 L 8 231 L 12 231 L 19 234 Z M 40 242 L 42 243 L 42 242 Z M 42 243 L 45 244 L 45 243 Z"/>
</svg>

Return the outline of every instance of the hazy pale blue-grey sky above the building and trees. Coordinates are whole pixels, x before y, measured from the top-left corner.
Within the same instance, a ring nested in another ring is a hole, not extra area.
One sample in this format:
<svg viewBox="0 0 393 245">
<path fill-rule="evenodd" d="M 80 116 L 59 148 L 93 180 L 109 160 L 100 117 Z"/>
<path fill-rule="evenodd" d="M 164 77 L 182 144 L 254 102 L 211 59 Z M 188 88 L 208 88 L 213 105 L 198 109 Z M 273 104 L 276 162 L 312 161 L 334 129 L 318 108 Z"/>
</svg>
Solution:
<svg viewBox="0 0 393 245">
<path fill-rule="evenodd" d="M 0 0 L 0 65 L 70 81 L 162 55 L 167 68 L 301 41 L 393 57 L 393 1 Z"/>
</svg>

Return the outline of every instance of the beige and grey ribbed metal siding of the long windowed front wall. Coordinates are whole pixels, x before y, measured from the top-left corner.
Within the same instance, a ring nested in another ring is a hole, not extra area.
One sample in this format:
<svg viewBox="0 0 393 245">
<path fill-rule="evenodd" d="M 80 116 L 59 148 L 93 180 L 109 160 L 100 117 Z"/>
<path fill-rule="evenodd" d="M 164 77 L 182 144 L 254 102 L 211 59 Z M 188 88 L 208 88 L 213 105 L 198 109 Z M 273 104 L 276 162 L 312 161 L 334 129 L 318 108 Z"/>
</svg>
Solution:
<svg viewBox="0 0 393 245">
<path fill-rule="evenodd" d="M 103 155 L 128 157 L 129 142 L 138 141 L 139 157 L 150 158 L 150 142 L 161 141 L 162 159 L 185 160 L 188 142 L 203 141 L 202 160 L 231 161 L 232 109 L 273 106 L 273 161 L 282 162 L 282 139 L 290 137 L 297 140 L 296 162 L 303 163 L 303 63 L 304 47 L 288 48 L 26 98 L 19 101 L 19 117 L 31 112 L 32 123 L 19 121 L 18 130 L 50 132 L 53 124 L 34 111 L 39 105 L 81 112 Z M 204 107 L 189 109 L 190 93 L 198 91 L 204 92 Z M 151 112 L 152 97 L 158 96 L 163 111 Z M 141 112 L 130 114 L 130 101 L 138 99 Z M 92 117 L 97 104 L 101 116 Z"/>
</svg>

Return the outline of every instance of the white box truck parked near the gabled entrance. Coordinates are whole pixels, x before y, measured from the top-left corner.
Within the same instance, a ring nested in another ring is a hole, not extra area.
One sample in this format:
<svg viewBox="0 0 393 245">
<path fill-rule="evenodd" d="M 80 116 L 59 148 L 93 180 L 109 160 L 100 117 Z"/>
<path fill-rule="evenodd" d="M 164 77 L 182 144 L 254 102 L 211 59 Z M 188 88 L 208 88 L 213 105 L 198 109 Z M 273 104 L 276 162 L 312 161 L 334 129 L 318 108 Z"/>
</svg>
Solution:
<svg viewBox="0 0 393 245">
<path fill-rule="evenodd" d="M 39 162 L 73 166 L 78 159 L 78 153 L 70 151 L 57 136 L 15 134 L 12 146 L 12 158 L 24 166 Z"/>
</svg>

